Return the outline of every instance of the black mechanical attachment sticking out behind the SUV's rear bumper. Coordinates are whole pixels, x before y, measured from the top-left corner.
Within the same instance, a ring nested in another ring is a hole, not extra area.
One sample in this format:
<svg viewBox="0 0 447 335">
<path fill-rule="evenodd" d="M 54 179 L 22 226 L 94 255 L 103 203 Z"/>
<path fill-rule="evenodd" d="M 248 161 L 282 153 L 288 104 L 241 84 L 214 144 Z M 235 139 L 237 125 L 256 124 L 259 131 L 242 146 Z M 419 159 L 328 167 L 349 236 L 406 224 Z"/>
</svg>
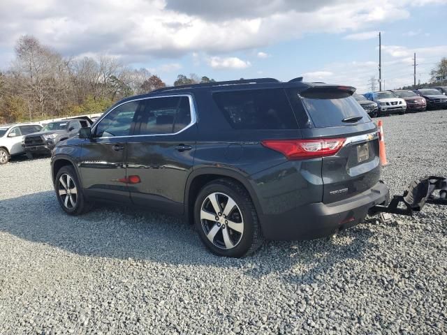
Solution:
<svg viewBox="0 0 447 335">
<path fill-rule="evenodd" d="M 439 196 L 433 195 L 439 190 Z M 405 208 L 399 207 L 400 203 Z M 382 222 L 391 221 L 389 214 L 413 215 L 413 211 L 421 211 L 425 204 L 447 205 L 447 178 L 427 177 L 413 181 L 404 195 L 395 195 L 388 206 L 376 205 L 369 209 L 369 215 L 380 214 Z"/>
</svg>

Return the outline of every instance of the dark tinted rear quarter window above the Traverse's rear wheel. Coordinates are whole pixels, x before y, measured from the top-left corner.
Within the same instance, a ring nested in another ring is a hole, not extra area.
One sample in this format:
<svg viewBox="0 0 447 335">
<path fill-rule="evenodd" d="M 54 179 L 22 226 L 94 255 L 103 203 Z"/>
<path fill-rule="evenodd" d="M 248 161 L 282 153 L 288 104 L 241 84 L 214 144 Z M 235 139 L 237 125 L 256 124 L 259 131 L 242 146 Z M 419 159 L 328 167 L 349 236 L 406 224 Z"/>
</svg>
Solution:
<svg viewBox="0 0 447 335">
<path fill-rule="evenodd" d="M 214 101 L 235 129 L 297 129 L 284 89 L 226 91 Z"/>
</svg>

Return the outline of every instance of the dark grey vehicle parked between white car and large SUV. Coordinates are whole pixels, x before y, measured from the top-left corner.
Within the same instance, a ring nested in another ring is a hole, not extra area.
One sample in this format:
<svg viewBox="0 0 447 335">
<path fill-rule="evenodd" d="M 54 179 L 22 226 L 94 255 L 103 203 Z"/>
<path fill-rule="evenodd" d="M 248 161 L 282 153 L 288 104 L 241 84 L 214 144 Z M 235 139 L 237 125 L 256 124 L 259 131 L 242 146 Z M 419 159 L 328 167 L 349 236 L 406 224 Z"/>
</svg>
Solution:
<svg viewBox="0 0 447 335">
<path fill-rule="evenodd" d="M 25 136 L 22 147 L 28 156 L 50 154 L 58 142 L 78 135 L 80 128 L 89 127 L 91 124 L 88 117 L 50 122 L 41 132 Z"/>
</svg>

